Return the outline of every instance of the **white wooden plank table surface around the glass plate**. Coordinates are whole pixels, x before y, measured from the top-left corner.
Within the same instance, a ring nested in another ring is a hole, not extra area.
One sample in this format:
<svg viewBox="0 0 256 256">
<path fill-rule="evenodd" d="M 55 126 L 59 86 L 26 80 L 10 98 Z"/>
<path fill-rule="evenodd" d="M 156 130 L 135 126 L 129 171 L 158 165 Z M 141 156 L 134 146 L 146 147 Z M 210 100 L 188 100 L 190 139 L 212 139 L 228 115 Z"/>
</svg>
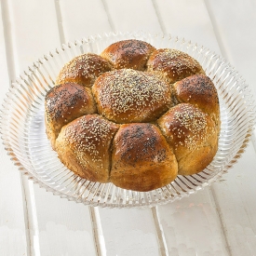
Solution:
<svg viewBox="0 0 256 256">
<path fill-rule="evenodd" d="M 1 103 L 11 81 L 62 43 L 138 30 L 209 47 L 236 67 L 256 96 L 255 13 L 255 0 L 1 0 Z M 1 144 L 0 256 L 256 255 L 255 150 L 252 140 L 221 181 L 180 201 L 101 209 L 28 181 Z"/>
</svg>

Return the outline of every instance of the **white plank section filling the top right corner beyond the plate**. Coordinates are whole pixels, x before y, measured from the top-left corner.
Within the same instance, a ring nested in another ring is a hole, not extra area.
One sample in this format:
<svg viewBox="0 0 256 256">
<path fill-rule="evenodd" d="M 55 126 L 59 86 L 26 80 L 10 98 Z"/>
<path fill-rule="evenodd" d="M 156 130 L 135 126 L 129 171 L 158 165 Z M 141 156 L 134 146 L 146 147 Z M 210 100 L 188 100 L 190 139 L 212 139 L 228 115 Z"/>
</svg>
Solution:
<svg viewBox="0 0 256 256">
<path fill-rule="evenodd" d="M 235 0 L 230 4 L 206 0 L 206 4 L 224 57 L 246 79 L 256 97 L 255 1 Z"/>
</svg>

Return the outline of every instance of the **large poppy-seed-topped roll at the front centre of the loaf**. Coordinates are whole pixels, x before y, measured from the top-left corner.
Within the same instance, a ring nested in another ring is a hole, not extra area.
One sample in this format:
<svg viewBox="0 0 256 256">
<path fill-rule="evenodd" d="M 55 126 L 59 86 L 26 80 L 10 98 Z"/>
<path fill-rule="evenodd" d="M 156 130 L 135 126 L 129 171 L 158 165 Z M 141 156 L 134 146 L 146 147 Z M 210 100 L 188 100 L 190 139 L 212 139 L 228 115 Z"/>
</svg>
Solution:
<svg viewBox="0 0 256 256">
<path fill-rule="evenodd" d="M 160 130 L 152 124 L 122 125 L 113 142 L 111 182 L 149 191 L 177 176 L 177 161 Z"/>
</svg>

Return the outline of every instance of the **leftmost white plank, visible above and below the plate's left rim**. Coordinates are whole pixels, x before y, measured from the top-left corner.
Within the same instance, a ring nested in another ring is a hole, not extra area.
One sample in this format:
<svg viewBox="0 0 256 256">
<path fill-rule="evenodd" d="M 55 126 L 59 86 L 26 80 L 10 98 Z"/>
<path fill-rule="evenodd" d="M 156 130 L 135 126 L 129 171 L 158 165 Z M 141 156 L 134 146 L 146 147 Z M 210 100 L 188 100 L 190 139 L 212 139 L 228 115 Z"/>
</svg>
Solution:
<svg viewBox="0 0 256 256">
<path fill-rule="evenodd" d="M 5 9 L 5 7 L 0 6 L 1 108 L 10 84 L 4 33 L 4 29 L 7 30 L 7 27 L 4 28 L 4 24 L 7 25 L 7 20 L 2 15 Z M 29 255 L 20 171 L 11 163 L 2 141 L 0 144 L 0 163 L 0 251 L 2 255 Z"/>
</svg>

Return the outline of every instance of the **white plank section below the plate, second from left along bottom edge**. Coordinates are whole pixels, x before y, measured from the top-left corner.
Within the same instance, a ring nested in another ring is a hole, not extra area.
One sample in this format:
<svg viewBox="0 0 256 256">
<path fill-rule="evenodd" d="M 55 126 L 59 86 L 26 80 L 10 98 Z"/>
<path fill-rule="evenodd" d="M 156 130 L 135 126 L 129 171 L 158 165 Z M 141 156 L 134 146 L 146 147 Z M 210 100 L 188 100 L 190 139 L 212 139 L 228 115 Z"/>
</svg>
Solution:
<svg viewBox="0 0 256 256">
<path fill-rule="evenodd" d="M 97 255 L 88 207 L 52 195 L 31 181 L 26 188 L 35 255 Z"/>
</svg>

